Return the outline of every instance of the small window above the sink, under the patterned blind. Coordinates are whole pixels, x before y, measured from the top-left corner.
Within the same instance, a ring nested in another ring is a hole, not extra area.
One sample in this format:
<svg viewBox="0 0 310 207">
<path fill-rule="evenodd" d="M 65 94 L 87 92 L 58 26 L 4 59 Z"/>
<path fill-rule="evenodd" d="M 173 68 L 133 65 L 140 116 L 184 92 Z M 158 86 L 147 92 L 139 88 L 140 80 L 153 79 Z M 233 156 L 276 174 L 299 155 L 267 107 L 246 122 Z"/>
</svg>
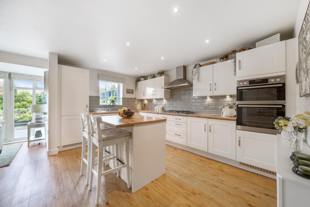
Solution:
<svg viewBox="0 0 310 207">
<path fill-rule="evenodd" d="M 116 100 L 115 104 L 121 104 L 120 103 L 121 88 L 122 83 L 99 81 L 100 105 L 110 104 L 113 100 Z"/>
</svg>

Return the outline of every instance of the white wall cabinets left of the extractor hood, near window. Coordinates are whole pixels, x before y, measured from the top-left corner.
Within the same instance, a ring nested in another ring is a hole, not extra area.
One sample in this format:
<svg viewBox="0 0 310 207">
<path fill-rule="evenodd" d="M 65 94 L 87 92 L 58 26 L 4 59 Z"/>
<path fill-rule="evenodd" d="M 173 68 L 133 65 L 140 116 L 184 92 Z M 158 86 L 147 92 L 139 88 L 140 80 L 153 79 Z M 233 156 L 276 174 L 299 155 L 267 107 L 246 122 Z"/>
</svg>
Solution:
<svg viewBox="0 0 310 207">
<path fill-rule="evenodd" d="M 169 82 L 168 76 L 139 81 L 136 99 L 170 98 L 170 90 L 162 88 Z"/>
</svg>

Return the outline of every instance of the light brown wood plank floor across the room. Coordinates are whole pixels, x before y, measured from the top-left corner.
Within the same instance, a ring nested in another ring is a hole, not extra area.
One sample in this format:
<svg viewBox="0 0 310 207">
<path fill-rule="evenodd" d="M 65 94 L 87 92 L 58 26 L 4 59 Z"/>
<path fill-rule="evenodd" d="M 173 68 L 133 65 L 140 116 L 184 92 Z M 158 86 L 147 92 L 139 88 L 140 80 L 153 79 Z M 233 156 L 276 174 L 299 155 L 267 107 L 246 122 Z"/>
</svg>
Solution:
<svg viewBox="0 0 310 207">
<path fill-rule="evenodd" d="M 0 206 L 94 206 L 96 181 L 88 191 L 80 167 L 81 148 L 47 156 L 46 144 L 24 143 L 0 168 Z M 277 187 L 272 178 L 166 145 L 166 174 L 134 194 L 115 174 L 104 176 L 105 205 L 276 206 Z"/>
</svg>

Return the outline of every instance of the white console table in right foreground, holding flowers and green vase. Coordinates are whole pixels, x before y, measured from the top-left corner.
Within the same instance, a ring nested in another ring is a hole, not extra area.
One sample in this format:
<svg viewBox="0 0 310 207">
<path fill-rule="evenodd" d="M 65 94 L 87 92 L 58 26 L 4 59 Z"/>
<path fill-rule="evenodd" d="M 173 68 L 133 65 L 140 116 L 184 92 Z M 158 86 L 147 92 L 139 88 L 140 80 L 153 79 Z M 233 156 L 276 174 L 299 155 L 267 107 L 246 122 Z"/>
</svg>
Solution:
<svg viewBox="0 0 310 207">
<path fill-rule="evenodd" d="M 277 135 L 277 206 L 309 206 L 310 179 L 292 171 L 290 142 Z M 310 147 L 303 141 L 303 153 L 310 155 Z"/>
</svg>

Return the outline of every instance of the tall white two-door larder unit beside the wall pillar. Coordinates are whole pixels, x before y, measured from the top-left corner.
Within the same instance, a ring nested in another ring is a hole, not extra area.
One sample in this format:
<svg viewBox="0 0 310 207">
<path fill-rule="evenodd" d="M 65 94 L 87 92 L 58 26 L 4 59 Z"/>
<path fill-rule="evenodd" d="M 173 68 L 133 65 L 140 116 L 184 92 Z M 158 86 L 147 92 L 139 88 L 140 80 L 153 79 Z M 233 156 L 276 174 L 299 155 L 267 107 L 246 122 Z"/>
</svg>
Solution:
<svg viewBox="0 0 310 207">
<path fill-rule="evenodd" d="M 88 113 L 89 70 L 61 66 L 61 146 L 82 142 L 80 114 Z"/>
</svg>

